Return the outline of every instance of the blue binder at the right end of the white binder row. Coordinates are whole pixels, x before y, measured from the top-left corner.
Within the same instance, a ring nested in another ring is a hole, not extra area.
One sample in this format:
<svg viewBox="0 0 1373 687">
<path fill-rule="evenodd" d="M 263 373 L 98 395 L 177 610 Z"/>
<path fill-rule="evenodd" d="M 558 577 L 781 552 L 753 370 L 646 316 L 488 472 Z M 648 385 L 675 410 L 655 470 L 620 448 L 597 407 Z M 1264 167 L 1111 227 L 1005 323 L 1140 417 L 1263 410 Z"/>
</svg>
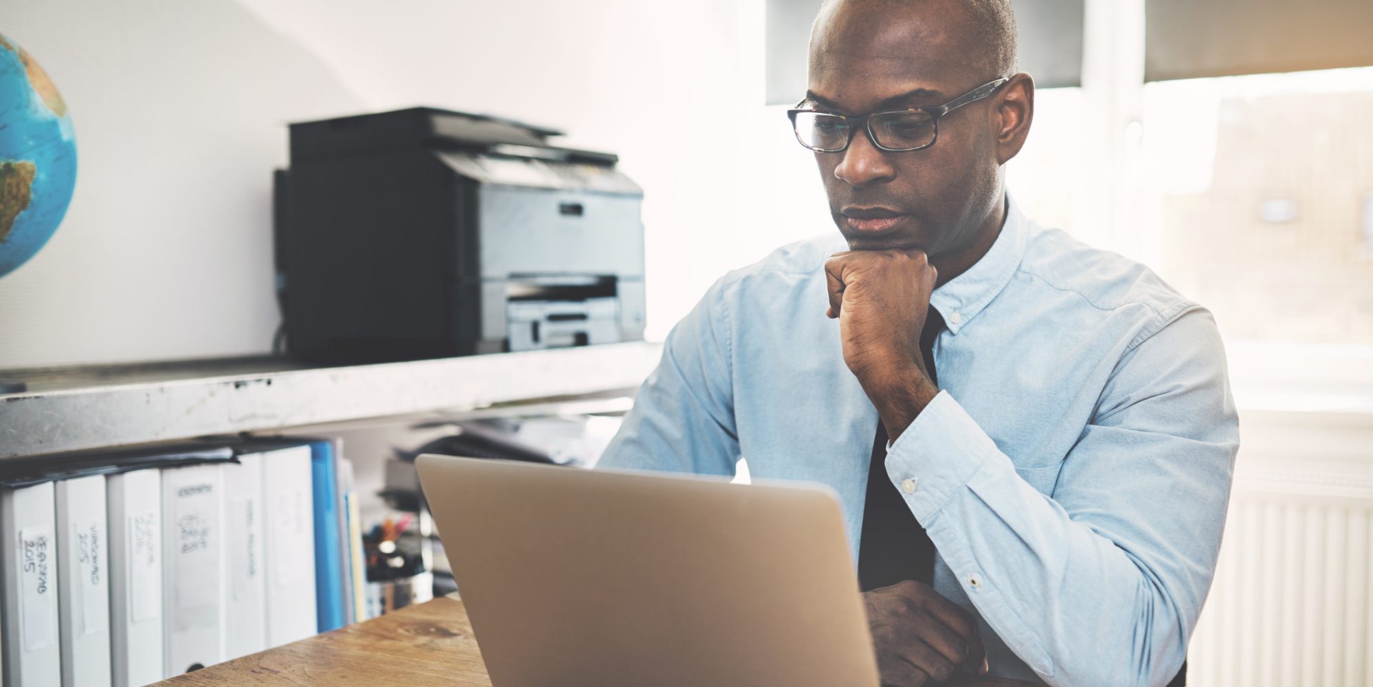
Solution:
<svg viewBox="0 0 1373 687">
<path fill-rule="evenodd" d="M 339 529 L 338 465 L 331 442 L 310 442 L 314 474 L 314 609 L 319 631 L 347 623 L 343 607 L 343 532 Z"/>
</svg>

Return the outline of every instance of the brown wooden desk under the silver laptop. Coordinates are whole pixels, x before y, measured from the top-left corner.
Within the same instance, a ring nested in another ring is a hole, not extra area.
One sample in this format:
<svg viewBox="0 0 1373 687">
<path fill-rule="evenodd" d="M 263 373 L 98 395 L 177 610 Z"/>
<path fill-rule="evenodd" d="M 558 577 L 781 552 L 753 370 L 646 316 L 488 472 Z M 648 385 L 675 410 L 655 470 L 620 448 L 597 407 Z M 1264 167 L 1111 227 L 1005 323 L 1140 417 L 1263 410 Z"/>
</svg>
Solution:
<svg viewBox="0 0 1373 687">
<path fill-rule="evenodd" d="M 379 618 L 246 655 L 158 683 L 168 687 L 240 684 L 492 687 L 463 602 L 439 598 Z M 957 687 L 1023 687 L 997 679 Z"/>
</svg>

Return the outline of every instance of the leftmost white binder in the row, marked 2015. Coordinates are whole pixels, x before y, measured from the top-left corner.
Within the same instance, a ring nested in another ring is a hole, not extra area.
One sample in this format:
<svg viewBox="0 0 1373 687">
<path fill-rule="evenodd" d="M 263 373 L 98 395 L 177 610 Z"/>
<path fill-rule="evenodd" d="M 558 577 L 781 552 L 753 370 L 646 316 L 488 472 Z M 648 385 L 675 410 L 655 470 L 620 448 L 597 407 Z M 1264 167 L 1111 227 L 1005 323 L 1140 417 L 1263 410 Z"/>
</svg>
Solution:
<svg viewBox="0 0 1373 687">
<path fill-rule="evenodd" d="M 0 624 L 4 684 L 62 684 L 52 483 L 0 490 Z"/>
</svg>

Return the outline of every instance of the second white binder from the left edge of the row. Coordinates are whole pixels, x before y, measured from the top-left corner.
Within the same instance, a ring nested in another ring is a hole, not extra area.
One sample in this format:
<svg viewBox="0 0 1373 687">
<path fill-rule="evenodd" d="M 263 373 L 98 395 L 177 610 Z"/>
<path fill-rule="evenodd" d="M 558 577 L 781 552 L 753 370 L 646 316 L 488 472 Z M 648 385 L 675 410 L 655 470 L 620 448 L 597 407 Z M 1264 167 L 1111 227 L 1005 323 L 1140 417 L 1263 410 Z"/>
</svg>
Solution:
<svg viewBox="0 0 1373 687">
<path fill-rule="evenodd" d="M 56 483 L 63 687 L 110 684 L 110 546 L 104 476 Z"/>
</svg>

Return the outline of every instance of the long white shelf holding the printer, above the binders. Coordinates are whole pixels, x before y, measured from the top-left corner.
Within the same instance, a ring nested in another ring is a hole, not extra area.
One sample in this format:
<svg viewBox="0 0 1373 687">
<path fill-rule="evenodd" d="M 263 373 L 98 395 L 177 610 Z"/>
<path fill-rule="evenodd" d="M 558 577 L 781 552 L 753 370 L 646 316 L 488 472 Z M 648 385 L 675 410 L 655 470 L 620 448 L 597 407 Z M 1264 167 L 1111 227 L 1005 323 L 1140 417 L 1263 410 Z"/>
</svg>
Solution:
<svg viewBox="0 0 1373 687">
<path fill-rule="evenodd" d="M 623 343 L 305 367 L 280 358 L 0 372 L 0 458 L 633 389 L 662 346 Z"/>
</svg>

